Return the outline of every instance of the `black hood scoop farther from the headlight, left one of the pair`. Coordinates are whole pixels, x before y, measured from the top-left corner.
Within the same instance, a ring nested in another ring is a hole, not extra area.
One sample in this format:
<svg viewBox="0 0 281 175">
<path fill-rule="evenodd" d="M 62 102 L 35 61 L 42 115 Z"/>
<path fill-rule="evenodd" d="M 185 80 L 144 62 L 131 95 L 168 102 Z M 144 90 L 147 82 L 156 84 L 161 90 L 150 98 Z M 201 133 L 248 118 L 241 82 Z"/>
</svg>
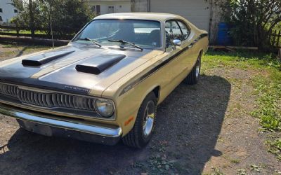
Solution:
<svg viewBox="0 0 281 175">
<path fill-rule="evenodd" d="M 61 52 L 61 51 L 60 52 L 48 52 L 46 54 L 36 55 L 33 57 L 29 57 L 27 59 L 22 59 L 22 65 L 23 66 L 41 66 L 48 62 L 52 62 L 55 59 L 65 57 L 66 55 L 69 55 L 72 52 L 74 52 L 74 50 L 63 51 L 63 52 Z"/>
</svg>

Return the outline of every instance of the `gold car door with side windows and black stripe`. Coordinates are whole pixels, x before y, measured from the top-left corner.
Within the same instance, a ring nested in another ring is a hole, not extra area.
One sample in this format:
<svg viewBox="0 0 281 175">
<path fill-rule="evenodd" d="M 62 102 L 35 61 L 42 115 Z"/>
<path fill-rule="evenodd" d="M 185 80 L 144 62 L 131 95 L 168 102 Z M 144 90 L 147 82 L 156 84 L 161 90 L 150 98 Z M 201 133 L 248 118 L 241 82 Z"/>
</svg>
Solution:
<svg viewBox="0 0 281 175">
<path fill-rule="evenodd" d="M 169 94 L 192 69 L 192 57 L 190 57 L 190 29 L 179 20 L 168 20 L 165 22 L 166 53 L 165 59 L 169 59 L 163 69 L 162 92 Z M 181 29 L 180 25 L 183 29 Z M 184 33 L 183 33 L 184 32 Z M 181 45 L 174 45 L 173 41 L 181 40 Z M 164 95 L 164 97 L 166 96 Z"/>
</svg>

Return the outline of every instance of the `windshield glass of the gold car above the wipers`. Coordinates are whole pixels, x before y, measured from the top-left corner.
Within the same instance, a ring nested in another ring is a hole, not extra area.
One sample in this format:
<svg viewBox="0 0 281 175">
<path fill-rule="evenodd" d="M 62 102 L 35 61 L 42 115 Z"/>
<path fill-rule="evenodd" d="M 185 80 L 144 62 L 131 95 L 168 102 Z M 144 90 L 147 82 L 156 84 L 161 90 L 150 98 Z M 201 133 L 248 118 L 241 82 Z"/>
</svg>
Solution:
<svg viewBox="0 0 281 175">
<path fill-rule="evenodd" d="M 101 45 L 124 45 L 109 41 L 123 40 L 143 48 L 162 47 L 160 22 L 152 20 L 93 20 L 73 40 L 73 42 L 86 41 L 79 38 L 89 38 Z"/>
</svg>

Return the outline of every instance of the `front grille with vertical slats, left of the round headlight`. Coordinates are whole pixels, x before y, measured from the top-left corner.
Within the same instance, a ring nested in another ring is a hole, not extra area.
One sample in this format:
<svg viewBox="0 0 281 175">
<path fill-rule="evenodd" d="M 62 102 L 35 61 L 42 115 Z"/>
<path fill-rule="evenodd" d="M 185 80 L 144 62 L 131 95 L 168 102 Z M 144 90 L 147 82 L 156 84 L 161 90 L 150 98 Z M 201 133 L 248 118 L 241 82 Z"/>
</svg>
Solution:
<svg viewBox="0 0 281 175">
<path fill-rule="evenodd" d="M 0 94 L 16 97 L 23 104 L 31 104 L 34 106 L 95 111 L 94 98 L 80 97 L 72 94 L 35 92 L 20 89 L 15 85 L 1 83 Z"/>
</svg>

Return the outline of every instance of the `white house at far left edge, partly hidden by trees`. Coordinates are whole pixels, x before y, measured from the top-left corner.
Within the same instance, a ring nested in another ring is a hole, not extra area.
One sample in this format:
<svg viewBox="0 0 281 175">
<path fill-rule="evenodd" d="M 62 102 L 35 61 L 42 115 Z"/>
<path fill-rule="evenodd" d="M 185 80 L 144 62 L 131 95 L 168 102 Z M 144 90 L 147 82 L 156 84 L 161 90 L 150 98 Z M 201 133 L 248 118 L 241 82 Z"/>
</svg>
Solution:
<svg viewBox="0 0 281 175">
<path fill-rule="evenodd" d="M 2 21 L 0 21 L 0 24 L 4 22 L 10 22 L 11 18 L 13 18 L 18 13 L 15 13 L 15 7 L 11 4 L 11 0 L 0 0 L 0 8 L 2 9 L 2 12 L 0 12 L 0 16 L 2 18 Z"/>
</svg>

